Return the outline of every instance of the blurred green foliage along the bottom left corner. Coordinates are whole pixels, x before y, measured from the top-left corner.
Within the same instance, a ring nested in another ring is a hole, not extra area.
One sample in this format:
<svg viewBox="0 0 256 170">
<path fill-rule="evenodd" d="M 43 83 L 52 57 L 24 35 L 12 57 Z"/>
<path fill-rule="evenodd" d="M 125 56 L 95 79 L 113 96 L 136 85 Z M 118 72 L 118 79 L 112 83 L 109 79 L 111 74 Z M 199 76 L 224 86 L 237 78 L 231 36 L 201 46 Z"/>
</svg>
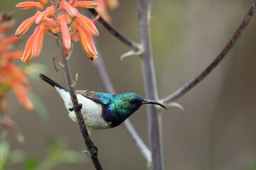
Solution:
<svg viewBox="0 0 256 170">
<path fill-rule="evenodd" d="M 16 164 L 23 164 L 24 170 L 51 170 L 58 164 L 80 164 L 88 161 L 83 152 L 68 149 L 68 140 L 60 137 L 57 140 L 53 135 L 46 135 L 46 159 L 40 160 L 37 156 L 26 156 L 20 150 L 11 151 L 9 142 L 0 142 L 0 170 L 12 169 Z"/>
</svg>

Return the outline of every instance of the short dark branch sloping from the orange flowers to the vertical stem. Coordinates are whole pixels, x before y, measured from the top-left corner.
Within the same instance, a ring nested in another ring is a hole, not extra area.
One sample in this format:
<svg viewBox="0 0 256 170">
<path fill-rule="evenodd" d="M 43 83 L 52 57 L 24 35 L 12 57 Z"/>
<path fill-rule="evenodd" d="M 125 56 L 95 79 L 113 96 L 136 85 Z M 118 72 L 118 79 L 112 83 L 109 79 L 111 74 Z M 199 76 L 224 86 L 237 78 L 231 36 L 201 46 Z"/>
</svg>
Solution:
<svg viewBox="0 0 256 170">
<path fill-rule="evenodd" d="M 99 14 L 94 8 L 89 8 L 89 10 L 94 16 L 97 16 Z M 124 36 L 116 28 L 114 28 L 110 23 L 107 23 L 107 21 L 105 21 L 105 19 L 103 19 L 101 16 L 99 18 L 99 22 L 102 23 L 102 26 L 104 26 L 107 30 L 109 30 L 110 33 L 112 33 L 112 35 L 114 35 L 116 38 L 124 42 L 124 44 L 128 45 L 129 47 L 132 47 L 132 49 L 135 51 L 140 50 L 140 47 L 139 45 L 137 45 L 136 42 Z"/>
</svg>

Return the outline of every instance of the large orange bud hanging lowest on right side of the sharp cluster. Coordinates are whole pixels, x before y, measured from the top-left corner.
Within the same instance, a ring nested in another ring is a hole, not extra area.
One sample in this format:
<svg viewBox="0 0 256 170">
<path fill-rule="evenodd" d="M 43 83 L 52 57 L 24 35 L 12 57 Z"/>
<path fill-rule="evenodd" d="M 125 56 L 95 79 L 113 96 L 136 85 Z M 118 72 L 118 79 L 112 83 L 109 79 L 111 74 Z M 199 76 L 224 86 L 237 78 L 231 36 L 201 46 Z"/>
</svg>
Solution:
<svg viewBox="0 0 256 170">
<path fill-rule="evenodd" d="M 85 52 L 85 55 L 90 60 L 95 60 L 95 58 L 97 57 L 97 50 L 95 48 L 95 44 L 92 40 L 92 36 L 90 35 L 90 33 L 87 32 L 87 30 L 82 26 L 78 19 L 75 19 L 73 21 L 71 27 L 79 31 L 79 40 L 82 45 L 82 50 Z"/>
</svg>

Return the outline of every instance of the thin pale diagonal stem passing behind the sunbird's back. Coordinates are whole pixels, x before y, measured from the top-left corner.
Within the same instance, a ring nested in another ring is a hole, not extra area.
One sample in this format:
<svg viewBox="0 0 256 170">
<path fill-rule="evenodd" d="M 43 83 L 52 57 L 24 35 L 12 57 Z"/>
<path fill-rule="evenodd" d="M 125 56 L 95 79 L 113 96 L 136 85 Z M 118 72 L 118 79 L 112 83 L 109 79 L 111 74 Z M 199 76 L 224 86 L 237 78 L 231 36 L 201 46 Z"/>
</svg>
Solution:
<svg viewBox="0 0 256 170">
<path fill-rule="evenodd" d="M 95 42 L 95 45 L 97 46 L 96 42 Z M 103 58 L 100 56 L 100 54 L 98 55 L 98 57 L 99 58 L 94 63 L 97 68 L 97 72 L 100 76 L 100 79 L 102 80 L 102 84 L 105 86 L 107 93 L 116 94 L 116 92 L 114 91 L 114 86 L 110 80 L 110 77 L 107 74 L 107 69 L 105 68 Z M 134 129 L 129 119 L 124 121 L 124 127 L 127 129 L 127 132 L 132 137 L 132 140 L 134 140 L 135 145 L 137 145 L 137 147 L 139 148 L 139 151 L 142 153 L 146 161 L 151 162 L 150 150 L 148 149 L 148 147 L 146 147 L 142 139 L 139 137 L 138 133 Z"/>
</svg>

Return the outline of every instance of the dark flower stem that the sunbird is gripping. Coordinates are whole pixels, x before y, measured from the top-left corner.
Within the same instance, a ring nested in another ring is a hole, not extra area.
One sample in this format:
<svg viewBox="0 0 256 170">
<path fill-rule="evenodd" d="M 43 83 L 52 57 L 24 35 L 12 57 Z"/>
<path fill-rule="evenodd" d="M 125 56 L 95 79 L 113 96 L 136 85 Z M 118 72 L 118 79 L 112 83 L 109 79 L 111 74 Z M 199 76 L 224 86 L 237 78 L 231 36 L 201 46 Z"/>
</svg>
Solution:
<svg viewBox="0 0 256 170">
<path fill-rule="evenodd" d="M 61 36 L 58 36 L 58 40 L 57 40 L 58 50 L 59 50 L 59 53 L 60 53 L 60 60 L 61 60 L 62 64 L 64 65 L 64 73 L 65 73 L 66 83 L 68 85 L 68 91 L 70 92 L 70 98 L 71 98 L 71 101 L 73 103 L 73 107 L 78 108 L 78 106 L 79 106 L 78 98 L 75 95 L 74 89 L 72 88 L 73 79 L 72 79 L 72 76 L 71 76 L 70 68 L 69 68 L 69 65 L 68 65 L 68 60 L 66 59 L 65 49 L 64 49 L 64 46 L 63 46 L 62 42 L 63 42 L 63 40 L 62 40 Z M 84 140 L 85 145 L 88 149 L 87 152 L 90 155 L 92 155 L 91 159 L 92 159 L 92 162 L 95 166 L 95 169 L 101 170 L 102 166 L 100 165 L 99 159 L 97 159 L 97 147 L 95 147 L 95 145 L 92 143 L 92 140 L 90 140 L 90 137 L 89 137 L 89 134 L 87 132 L 86 125 L 85 125 L 85 121 L 82 118 L 82 113 L 81 113 L 80 109 L 75 109 L 75 115 L 78 119 L 78 125 L 79 125 L 80 131 L 82 133 L 83 140 Z"/>
</svg>

